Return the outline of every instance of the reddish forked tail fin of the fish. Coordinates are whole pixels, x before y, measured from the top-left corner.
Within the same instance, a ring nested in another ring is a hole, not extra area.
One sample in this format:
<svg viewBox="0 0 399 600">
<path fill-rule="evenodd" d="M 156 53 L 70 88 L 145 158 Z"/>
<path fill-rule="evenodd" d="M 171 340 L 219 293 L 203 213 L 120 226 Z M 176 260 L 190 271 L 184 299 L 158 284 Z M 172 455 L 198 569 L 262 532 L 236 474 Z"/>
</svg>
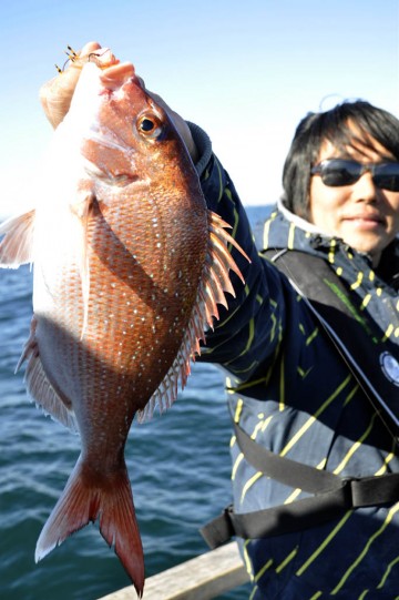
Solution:
<svg viewBox="0 0 399 600">
<path fill-rule="evenodd" d="M 144 588 L 144 557 L 125 467 L 100 477 L 79 459 L 38 539 L 38 562 L 69 536 L 100 519 L 100 532 L 114 547 L 139 598 Z"/>
</svg>

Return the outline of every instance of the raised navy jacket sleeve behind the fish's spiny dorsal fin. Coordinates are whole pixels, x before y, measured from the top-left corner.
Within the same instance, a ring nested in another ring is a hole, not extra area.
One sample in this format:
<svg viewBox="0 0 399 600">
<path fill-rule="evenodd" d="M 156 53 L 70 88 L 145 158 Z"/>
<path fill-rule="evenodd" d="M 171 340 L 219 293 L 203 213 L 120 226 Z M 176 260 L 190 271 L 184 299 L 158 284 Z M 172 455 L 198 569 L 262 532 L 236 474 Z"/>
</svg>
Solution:
<svg viewBox="0 0 399 600">
<path fill-rule="evenodd" d="M 286 291 L 277 270 L 259 256 L 244 206 L 228 173 L 212 153 L 206 134 L 190 125 L 201 154 L 196 167 L 207 206 L 232 225 L 231 234 L 250 258 L 248 263 L 237 250 L 232 250 L 245 285 L 231 272 L 235 297 L 226 294 L 228 309 L 218 307 L 219 321 L 207 332 L 200 359 L 217 363 L 246 382 L 260 366 L 264 372 L 267 364 L 272 365 L 278 352 Z"/>
</svg>

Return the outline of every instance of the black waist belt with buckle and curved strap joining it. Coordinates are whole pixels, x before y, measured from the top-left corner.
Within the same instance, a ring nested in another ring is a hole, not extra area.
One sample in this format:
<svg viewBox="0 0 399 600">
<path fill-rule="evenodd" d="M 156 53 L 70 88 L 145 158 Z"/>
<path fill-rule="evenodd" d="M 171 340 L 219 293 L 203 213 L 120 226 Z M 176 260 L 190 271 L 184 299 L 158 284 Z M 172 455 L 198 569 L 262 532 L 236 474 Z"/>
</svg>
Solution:
<svg viewBox="0 0 399 600">
<path fill-rule="evenodd" d="M 352 508 L 392 504 L 399 499 L 399 474 L 341 479 L 334 474 L 269 452 L 237 425 L 236 434 L 246 459 L 257 470 L 290 487 L 316 495 L 254 512 L 237 513 L 232 506 L 227 507 L 219 517 L 201 529 L 211 548 L 217 548 L 233 536 L 259 539 L 301 531 L 338 518 Z"/>
</svg>

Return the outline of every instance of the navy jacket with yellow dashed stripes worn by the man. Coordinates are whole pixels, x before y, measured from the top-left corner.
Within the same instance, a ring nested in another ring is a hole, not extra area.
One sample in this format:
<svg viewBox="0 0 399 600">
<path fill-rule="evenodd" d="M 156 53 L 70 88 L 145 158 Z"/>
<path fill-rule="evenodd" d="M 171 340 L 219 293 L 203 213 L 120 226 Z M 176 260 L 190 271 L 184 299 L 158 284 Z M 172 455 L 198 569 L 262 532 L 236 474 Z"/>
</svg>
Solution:
<svg viewBox="0 0 399 600">
<path fill-rule="evenodd" d="M 275 454 L 341 477 L 399 471 L 393 436 L 340 359 L 289 281 L 257 250 L 228 174 L 206 134 L 191 125 L 208 207 L 233 226 L 252 263 L 233 251 L 245 277 L 236 297 L 207 334 L 201 359 L 228 372 L 232 418 Z M 391 244 L 378 270 L 340 240 L 323 236 L 283 206 L 265 223 L 263 248 L 299 248 L 326 261 L 359 314 L 376 322 L 399 360 L 399 247 Z M 398 387 L 399 394 L 399 387 Z M 295 502 L 301 489 L 254 469 L 232 439 L 235 510 L 248 512 Z M 398 498 L 399 500 L 399 498 Z M 399 501 L 350 509 L 296 533 L 245 540 L 252 599 L 399 599 Z"/>
</svg>

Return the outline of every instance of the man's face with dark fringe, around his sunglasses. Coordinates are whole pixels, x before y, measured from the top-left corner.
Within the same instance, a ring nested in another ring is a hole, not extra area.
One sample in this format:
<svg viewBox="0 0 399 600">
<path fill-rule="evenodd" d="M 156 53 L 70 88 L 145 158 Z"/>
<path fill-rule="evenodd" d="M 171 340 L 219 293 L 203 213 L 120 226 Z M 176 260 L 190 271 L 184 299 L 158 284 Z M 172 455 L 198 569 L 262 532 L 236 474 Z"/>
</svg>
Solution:
<svg viewBox="0 0 399 600">
<path fill-rule="evenodd" d="M 316 162 L 327 159 L 350 159 L 362 164 L 396 161 L 372 138 L 368 138 L 367 144 L 356 142 L 348 146 L 345 154 L 326 141 Z M 308 218 L 321 232 L 369 254 L 377 266 L 381 252 L 399 233 L 399 192 L 377 187 L 369 171 L 355 183 L 339 187 L 324 184 L 321 176 L 316 174 L 310 179 Z"/>
</svg>

